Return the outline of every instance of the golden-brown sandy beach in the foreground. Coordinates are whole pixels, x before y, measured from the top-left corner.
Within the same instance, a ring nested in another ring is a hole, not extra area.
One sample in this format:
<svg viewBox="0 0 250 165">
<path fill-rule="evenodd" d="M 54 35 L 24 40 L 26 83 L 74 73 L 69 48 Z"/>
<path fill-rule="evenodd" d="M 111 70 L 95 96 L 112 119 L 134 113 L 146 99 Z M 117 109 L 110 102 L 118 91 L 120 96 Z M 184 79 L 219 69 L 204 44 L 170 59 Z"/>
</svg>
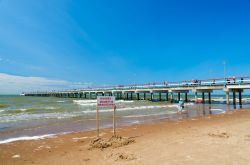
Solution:
<svg viewBox="0 0 250 165">
<path fill-rule="evenodd" d="M 0 145 L 0 164 L 250 164 L 250 109 L 120 127 L 134 143 L 90 149 L 95 131 Z M 103 138 L 112 129 L 101 130 Z"/>
</svg>

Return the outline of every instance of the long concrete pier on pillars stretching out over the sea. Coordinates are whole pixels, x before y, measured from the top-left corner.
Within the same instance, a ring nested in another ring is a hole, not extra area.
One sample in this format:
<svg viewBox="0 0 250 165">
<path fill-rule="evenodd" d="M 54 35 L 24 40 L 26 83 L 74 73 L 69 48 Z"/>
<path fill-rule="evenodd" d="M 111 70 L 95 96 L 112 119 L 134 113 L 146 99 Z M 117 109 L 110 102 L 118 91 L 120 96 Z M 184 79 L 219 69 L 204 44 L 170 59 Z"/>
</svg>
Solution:
<svg viewBox="0 0 250 165">
<path fill-rule="evenodd" d="M 233 104 L 236 104 L 236 93 L 238 93 L 239 104 L 242 105 L 242 92 L 250 89 L 250 76 L 214 78 L 208 80 L 185 80 L 180 82 L 154 82 L 147 84 L 131 84 L 103 87 L 88 87 L 83 89 L 67 91 L 46 91 L 46 92 L 28 92 L 25 96 L 42 96 L 42 97 L 68 97 L 95 99 L 97 96 L 115 96 L 116 99 L 125 100 L 154 100 L 155 94 L 158 100 L 173 102 L 179 101 L 181 95 L 187 102 L 189 92 L 194 93 L 194 101 L 198 101 L 198 94 L 202 95 L 202 103 L 208 101 L 211 104 L 211 93 L 214 90 L 225 92 L 226 103 L 230 103 L 230 93 L 232 93 Z M 174 96 L 177 94 L 177 98 Z M 207 94 L 208 98 L 205 98 Z"/>
</svg>

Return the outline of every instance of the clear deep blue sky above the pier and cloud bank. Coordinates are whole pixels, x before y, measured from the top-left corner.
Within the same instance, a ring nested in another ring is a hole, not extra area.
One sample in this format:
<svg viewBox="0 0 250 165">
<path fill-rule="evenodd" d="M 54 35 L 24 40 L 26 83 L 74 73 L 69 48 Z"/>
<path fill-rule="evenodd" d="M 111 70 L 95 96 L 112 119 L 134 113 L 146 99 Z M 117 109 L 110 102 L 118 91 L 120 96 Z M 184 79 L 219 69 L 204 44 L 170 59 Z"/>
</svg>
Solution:
<svg viewBox="0 0 250 165">
<path fill-rule="evenodd" d="M 223 77 L 223 61 L 250 75 L 249 45 L 248 0 L 0 0 L 5 76 L 146 83 Z"/>
</svg>

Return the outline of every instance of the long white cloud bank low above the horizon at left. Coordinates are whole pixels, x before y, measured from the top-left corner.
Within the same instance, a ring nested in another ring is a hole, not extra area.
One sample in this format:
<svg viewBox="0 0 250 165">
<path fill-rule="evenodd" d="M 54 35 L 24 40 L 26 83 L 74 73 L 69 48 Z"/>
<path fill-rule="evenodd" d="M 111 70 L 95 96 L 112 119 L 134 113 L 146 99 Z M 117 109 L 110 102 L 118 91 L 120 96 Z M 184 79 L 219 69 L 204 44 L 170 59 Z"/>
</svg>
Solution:
<svg viewBox="0 0 250 165">
<path fill-rule="evenodd" d="M 44 77 L 25 77 L 0 73 L 0 94 L 20 94 L 29 91 L 48 91 L 84 88 L 90 83 L 53 80 Z"/>
</svg>

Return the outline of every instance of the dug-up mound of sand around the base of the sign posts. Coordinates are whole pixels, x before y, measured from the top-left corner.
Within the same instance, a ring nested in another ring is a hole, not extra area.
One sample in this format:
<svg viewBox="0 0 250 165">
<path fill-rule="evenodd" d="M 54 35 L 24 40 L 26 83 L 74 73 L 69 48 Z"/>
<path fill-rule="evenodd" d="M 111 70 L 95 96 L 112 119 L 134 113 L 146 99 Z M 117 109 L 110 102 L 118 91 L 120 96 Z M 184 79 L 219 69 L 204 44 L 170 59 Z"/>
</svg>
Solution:
<svg viewBox="0 0 250 165">
<path fill-rule="evenodd" d="M 94 139 L 90 142 L 90 147 L 99 148 L 99 149 L 105 149 L 108 147 L 117 148 L 117 147 L 125 146 L 134 142 L 135 142 L 134 139 L 125 138 L 125 137 L 116 135 L 116 136 L 112 136 L 110 139 L 102 139 L 102 138 Z"/>
</svg>

